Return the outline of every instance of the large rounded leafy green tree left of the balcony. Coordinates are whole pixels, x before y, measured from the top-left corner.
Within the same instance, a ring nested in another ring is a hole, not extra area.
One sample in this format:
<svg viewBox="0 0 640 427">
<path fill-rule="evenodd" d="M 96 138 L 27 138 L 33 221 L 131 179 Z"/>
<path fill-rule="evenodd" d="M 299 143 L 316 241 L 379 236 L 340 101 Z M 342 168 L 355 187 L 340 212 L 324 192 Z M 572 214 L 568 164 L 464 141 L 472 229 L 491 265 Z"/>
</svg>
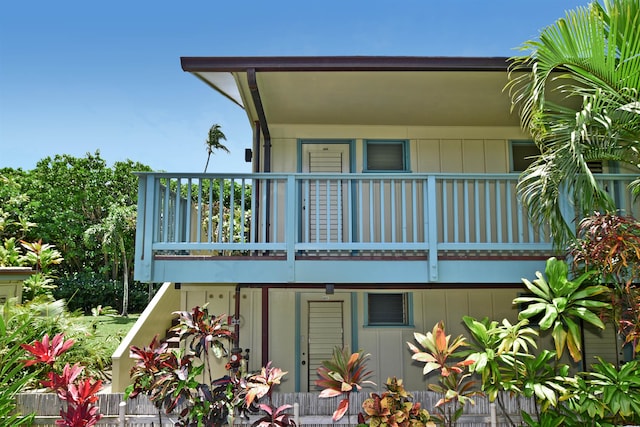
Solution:
<svg viewBox="0 0 640 427">
<path fill-rule="evenodd" d="M 131 160 L 109 168 L 99 152 L 83 158 L 64 154 L 41 160 L 21 182 L 28 198 L 23 212 L 38 224 L 27 234 L 28 240 L 42 239 L 55 245 L 65 258 L 65 273 L 94 271 L 115 278 L 117 271 L 111 260 L 99 246 L 87 248 L 84 233 L 101 224 L 113 204 L 136 204 L 138 179 L 134 172 L 150 169 Z M 126 243 L 133 247 L 133 231 Z M 131 261 L 133 251 L 127 253 Z"/>
</svg>

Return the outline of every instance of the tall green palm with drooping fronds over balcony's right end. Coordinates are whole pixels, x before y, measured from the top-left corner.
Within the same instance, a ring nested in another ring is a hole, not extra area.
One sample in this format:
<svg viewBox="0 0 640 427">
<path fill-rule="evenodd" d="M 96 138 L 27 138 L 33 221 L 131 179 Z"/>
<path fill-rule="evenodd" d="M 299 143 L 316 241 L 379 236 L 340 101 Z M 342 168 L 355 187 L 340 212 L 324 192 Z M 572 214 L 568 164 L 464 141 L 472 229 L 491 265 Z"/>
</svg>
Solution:
<svg viewBox="0 0 640 427">
<path fill-rule="evenodd" d="M 527 55 L 511 58 L 512 105 L 540 149 L 518 191 L 531 219 L 551 225 L 558 245 L 574 235 L 574 218 L 563 217 L 562 210 L 571 192 L 578 217 L 615 210 L 589 162 L 639 168 L 638 28 L 638 0 L 604 0 L 604 6 L 594 1 L 543 29 L 539 40 L 525 42 L 521 50 Z M 640 190 L 640 180 L 632 189 Z"/>
</svg>

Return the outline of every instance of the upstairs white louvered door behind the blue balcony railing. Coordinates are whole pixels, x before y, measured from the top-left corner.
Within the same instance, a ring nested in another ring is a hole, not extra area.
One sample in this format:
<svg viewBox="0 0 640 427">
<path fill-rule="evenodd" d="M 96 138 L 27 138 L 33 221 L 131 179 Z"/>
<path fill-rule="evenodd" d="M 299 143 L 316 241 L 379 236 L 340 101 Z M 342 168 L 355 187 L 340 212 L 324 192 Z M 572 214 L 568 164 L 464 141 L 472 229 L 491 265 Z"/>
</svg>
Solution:
<svg viewBox="0 0 640 427">
<path fill-rule="evenodd" d="M 348 143 L 303 143 L 302 172 L 341 174 L 349 172 Z M 302 185 L 302 241 L 342 242 L 348 186 L 338 179 L 304 181 Z"/>
</svg>

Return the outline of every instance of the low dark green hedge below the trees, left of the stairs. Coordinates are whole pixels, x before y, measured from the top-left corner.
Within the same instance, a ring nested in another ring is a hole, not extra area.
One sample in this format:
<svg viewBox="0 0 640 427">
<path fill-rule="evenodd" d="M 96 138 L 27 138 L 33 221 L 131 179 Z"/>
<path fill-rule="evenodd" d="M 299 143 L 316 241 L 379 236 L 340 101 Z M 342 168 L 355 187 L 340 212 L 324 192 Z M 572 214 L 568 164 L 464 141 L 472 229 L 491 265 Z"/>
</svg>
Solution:
<svg viewBox="0 0 640 427">
<path fill-rule="evenodd" d="M 123 284 L 118 280 L 105 279 L 94 272 L 73 273 L 56 281 L 58 287 L 53 290 L 56 299 L 67 301 L 70 311 L 81 310 L 91 315 L 91 309 L 99 305 L 111 306 L 122 310 Z M 140 313 L 147 306 L 148 287 L 145 283 L 134 282 L 129 285 L 129 312 Z"/>
</svg>

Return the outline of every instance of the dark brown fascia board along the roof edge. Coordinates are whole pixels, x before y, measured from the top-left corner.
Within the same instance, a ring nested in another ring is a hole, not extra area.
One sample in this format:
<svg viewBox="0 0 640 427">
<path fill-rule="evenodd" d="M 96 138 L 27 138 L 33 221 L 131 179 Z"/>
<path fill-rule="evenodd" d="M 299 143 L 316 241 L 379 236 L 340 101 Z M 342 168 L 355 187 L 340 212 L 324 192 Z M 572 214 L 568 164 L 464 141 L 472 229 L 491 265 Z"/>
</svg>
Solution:
<svg viewBox="0 0 640 427">
<path fill-rule="evenodd" d="M 182 69 L 198 72 L 269 71 L 508 71 L 507 57 L 447 56 L 227 56 L 181 57 Z"/>
</svg>

